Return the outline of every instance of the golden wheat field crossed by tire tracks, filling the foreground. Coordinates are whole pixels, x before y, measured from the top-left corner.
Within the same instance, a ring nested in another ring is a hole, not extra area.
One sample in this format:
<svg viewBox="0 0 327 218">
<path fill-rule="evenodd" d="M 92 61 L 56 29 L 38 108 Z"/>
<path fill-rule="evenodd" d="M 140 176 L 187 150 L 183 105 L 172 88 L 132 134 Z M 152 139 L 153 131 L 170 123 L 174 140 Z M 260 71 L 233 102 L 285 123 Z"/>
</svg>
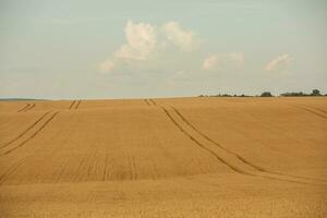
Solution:
<svg viewBox="0 0 327 218">
<path fill-rule="evenodd" d="M 0 101 L 0 217 L 327 217 L 327 98 Z"/>
</svg>

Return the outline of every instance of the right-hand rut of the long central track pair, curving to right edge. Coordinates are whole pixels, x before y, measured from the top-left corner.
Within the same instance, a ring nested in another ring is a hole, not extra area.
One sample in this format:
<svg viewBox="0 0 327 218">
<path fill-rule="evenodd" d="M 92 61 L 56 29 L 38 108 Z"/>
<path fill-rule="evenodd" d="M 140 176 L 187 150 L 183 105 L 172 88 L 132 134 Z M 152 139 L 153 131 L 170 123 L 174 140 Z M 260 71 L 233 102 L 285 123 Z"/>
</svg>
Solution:
<svg viewBox="0 0 327 218">
<path fill-rule="evenodd" d="M 299 179 L 305 179 L 305 180 L 311 180 L 311 181 L 323 181 L 326 182 L 326 180 L 319 180 L 319 179 L 313 179 L 313 178 L 306 178 L 306 177 L 301 177 L 301 175 L 291 175 L 291 174 L 286 174 L 286 173 L 280 173 L 280 172 L 275 172 L 275 171 L 270 171 L 267 170 L 263 167 L 259 167 L 253 162 L 251 162 L 250 160 L 245 159 L 244 157 L 242 157 L 241 155 L 239 155 L 238 153 L 234 153 L 232 150 L 227 149 L 226 147 L 223 147 L 221 144 L 217 143 L 216 141 L 211 140 L 210 137 L 208 137 L 207 135 L 205 135 L 203 132 L 201 132 L 198 129 L 196 129 L 192 123 L 190 123 L 189 120 L 186 120 L 186 118 L 184 116 L 182 116 L 182 113 L 174 107 L 171 107 L 174 112 L 190 126 L 192 128 L 195 132 L 197 132 L 201 136 L 203 136 L 204 138 L 206 138 L 207 141 L 211 142 L 214 145 L 218 146 L 219 148 L 223 149 L 225 152 L 229 153 L 230 155 L 233 155 L 235 158 L 238 158 L 239 160 L 241 160 L 243 164 L 250 166 L 251 168 L 259 171 L 259 172 L 265 172 L 265 173 L 269 173 L 272 175 L 284 175 L 284 177 L 289 177 L 289 178 L 299 178 Z"/>
</svg>

